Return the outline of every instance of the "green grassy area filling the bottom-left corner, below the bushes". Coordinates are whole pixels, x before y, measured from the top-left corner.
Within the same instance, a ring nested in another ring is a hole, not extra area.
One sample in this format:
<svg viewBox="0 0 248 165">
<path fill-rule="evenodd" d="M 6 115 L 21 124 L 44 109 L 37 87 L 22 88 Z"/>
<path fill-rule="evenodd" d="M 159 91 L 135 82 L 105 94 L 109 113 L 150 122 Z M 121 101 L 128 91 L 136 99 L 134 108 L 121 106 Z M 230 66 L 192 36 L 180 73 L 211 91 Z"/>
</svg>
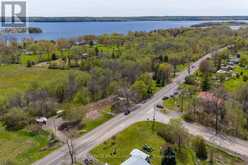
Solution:
<svg viewBox="0 0 248 165">
<path fill-rule="evenodd" d="M 45 149 L 48 140 L 46 133 L 31 135 L 24 130 L 9 132 L 0 125 L 0 164 L 8 164 L 6 161 L 15 165 L 31 164 L 55 149 Z"/>
</svg>

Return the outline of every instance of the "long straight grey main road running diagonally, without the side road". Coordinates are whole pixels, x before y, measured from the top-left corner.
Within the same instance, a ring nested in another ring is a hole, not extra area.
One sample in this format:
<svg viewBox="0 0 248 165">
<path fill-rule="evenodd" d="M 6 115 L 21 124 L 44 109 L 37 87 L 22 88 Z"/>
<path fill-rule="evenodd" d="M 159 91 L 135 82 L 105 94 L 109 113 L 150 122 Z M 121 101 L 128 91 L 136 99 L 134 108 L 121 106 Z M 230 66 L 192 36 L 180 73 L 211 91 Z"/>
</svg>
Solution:
<svg viewBox="0 0 248 165">
<path fill-rule="evenodd" d="M 219 49 L 218 51 L 222 51 L 224 48 Z M 193 74 L 198 68 L 200 63 L 211 57 L 211 53 L 205 55 L 197 62 L 193 63 L 191 68 L 191 74 Z M 117 133 L 121 132 L 125 128 L 130 125 L 149 119 L 152 119 L 154 113 L 154 106 L 161 102 L 164 96 L 169 96 L 173 94 L 178 86 L 182 84 L 185 80 L 185 77 L 188 75 L 188 71 L 183 71 L 178 74 L 178 76 L 172 81 L 172 83 L 168 84 L 166 87 L 162 88 L 158 93 L 156 93 L 152 98 L 150 98 L 146 103 L 142 104 L 140 108 L 136 111 L 132 112 L 128 116 L 124 116 L 123 114 L 119 114 L 91 132 L 85 134 L 84 136 L 74 140 L 74 146 L 76 150 L 76 155 L 78 159 L 82 159 L 87 155 L 87 153 L 96 147 L 97 145 L 103 143 L 105 140 L 111 138 Z M 163 115 L 159 119 L 161 122 L 168 122 L 172 116 Z M 193 130 L 193 129 L 192 129 Z M 248 152 L 247 152 L 248 154 Z M 34 163 L 34 165 L 62 165 L 64 163 L 68 163 L 70 160 L 68 155 L 67 146 L 59 148 L 43 159 Z"/>
</svg>

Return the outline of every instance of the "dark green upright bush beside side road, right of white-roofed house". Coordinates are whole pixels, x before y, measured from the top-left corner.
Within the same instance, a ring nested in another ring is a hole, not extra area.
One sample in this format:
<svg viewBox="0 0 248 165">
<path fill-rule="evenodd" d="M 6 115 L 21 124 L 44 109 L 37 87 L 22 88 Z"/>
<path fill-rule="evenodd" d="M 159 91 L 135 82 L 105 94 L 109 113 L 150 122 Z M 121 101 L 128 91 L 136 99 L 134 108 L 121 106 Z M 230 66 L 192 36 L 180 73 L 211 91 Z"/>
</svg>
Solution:
<svg viewBox="0 0 248 165">
<path fill-rule="evenodd" d="M 208 158 L 207 148 L 204 139 L 201 137 L 196 137 L 193 140 L 193 147 L 196 156 L 201 160 L 206 160 Z"/>
</svg>

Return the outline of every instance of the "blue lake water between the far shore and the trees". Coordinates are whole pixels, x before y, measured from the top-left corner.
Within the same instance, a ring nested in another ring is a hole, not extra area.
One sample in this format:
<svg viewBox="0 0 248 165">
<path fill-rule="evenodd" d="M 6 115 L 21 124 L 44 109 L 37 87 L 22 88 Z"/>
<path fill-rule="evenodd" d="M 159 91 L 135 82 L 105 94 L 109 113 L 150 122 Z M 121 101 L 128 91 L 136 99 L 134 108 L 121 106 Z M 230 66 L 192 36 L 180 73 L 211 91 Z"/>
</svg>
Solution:
<svg viewBox="0 0 248 165">
<path fill-rule="evenodd" d="M 60 38 L 73 38 L 81 35 L 101 35 L 110 33 L 126 34 L 129 31 L 151 31 L 155 29 L 169 29 L 189 27 L 191 25 L 209 21 L 133 21 L 133 22 L 32 22 L 30 27 L 39 27 L 41 34 L 12 34 L 1 36 L 4 39 L 56 40 Z"/>
</svg>

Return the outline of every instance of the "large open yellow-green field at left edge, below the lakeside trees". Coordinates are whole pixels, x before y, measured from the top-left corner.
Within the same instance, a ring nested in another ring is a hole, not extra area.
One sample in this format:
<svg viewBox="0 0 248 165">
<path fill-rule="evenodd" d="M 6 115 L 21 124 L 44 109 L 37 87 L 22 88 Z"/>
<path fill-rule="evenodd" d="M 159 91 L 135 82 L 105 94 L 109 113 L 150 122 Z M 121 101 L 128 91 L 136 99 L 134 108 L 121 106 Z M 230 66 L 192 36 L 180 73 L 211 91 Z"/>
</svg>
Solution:
<svg viewBox="0 0 248 165">
<path fill-rule="evenodd" d="M 46 86 L 65 79 L 70 71 L 51 70 L 45 68 L 26 68 L 23 65 L 0 66 L 0 103 L 9 96 L 22 93 L 32 83 Z"/>
</svg>

